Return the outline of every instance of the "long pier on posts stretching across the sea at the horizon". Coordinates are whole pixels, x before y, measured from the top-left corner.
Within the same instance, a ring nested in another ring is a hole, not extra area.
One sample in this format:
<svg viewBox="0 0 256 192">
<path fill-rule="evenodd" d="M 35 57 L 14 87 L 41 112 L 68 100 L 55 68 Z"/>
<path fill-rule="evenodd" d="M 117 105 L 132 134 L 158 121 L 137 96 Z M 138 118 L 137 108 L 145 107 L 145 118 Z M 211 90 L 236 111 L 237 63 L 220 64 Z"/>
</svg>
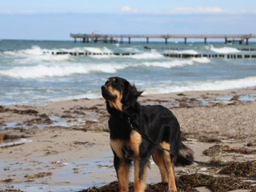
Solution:
<svg viewBox="0 0 256 192">
<path fill-rule="evenodd" d="M 186 44 L 187 39 L 190 38 L 202 38 L 204 43 L 207 43 L 209 38 L 222 38 L 225 43 L 238 42 L 246 45 L 249 44 L 250 38 L 256 38 L 256 34 L 70 34 L 71 38 L 74 38 L 74 42 L 77 39 L 81 39 L 84 43 L 89 42 L 124 42 L 127 39 L 128 44 L 130 44 L 132 38 L 145 38 L 146 43 L 150 42 L 150 38 L 162 39 L 167 44 L 169 39 L 183 38 Z"/>
</svg>

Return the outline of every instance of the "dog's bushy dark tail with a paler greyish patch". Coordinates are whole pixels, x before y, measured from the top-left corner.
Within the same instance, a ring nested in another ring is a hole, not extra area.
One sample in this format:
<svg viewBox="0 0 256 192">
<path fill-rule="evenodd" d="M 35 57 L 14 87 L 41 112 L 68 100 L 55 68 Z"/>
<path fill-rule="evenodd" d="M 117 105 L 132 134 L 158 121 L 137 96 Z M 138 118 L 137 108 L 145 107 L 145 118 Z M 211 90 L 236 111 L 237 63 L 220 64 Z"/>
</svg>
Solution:
<svg viewBox="0 0 256 192">
<path fill-rule="evenodd" d="M 178 155 L 174 158 L 175 166 L 190 166 L 194 161 L 194 152 L 189 147 L 179 142 Z"/>
</svg>

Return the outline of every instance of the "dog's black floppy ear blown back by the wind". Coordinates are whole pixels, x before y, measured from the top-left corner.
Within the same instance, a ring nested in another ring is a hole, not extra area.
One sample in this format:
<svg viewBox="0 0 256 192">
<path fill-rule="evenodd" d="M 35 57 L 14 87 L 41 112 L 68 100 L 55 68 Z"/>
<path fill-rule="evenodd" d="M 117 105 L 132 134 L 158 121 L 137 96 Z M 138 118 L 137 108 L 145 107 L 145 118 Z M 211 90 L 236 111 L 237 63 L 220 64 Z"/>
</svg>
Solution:
<svg viewBox="0 0 256 192">
<path fill-rule="evenodd" d="M 126 106 L 134 106 L 138 96 L 140 96 L 142 93 L 143 91 L 137 90 L 136 86 L 131 86 L 130 82 L 125 82 L 125 89 L 122 94 L 122 103 Z"/>
</svg>

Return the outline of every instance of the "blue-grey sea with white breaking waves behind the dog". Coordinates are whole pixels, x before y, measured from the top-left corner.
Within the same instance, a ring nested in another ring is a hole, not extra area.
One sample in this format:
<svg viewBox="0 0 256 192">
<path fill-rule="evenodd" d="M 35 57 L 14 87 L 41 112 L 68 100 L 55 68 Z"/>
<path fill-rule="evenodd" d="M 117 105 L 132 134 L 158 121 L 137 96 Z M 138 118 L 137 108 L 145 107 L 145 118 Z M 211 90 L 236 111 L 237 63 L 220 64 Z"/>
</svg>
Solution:
<svg viewBox="0 0 256 192">
<path fill-rule="evenodd" d="M 154 49 L 146 50 L 144 46 Z M 165 58 L 162 54 L 256 54 L 249 46 L 213 42 L 82 43 L 0 40 L 0 105 L 43 104 L 99 98 L 111 76 L 135 83 L 145 94 L 228 90 L 256 86 L 256 58 Z M 136 53 L 52 55 L 51 52 Z"/>
</svg>

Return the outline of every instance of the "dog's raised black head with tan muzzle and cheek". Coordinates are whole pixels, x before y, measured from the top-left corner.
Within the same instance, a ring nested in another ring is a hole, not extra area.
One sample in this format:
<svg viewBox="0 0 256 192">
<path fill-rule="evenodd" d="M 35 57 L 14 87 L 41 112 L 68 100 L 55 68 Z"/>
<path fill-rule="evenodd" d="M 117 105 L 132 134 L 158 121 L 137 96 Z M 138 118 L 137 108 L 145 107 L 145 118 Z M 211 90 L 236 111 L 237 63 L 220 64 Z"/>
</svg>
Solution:
<svg viewBox="0 0 256 192">
<path fill-rule="evenodd" d="M 110 107 L 119 111 L 123 111 L 124 106 L 126 106 L 125 108 L 134 106 L 138 96 L 142 93 L 143 91 L 138 91 L 124 78 L 108 78 L 105 85 L 102 86 L 102 97 L 109 102 Z"/>
</svg>

